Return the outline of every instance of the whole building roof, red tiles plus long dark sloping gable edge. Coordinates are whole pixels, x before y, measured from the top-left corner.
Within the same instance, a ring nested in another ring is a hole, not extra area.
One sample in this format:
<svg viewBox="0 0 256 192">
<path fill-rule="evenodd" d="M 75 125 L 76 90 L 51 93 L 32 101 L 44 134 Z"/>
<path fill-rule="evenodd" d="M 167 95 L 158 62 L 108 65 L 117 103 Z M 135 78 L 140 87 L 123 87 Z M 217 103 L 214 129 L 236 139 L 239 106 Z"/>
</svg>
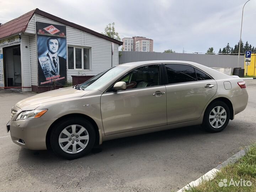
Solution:
<svg viewBox="0 0 256 192">
<path fill-rule="evenodd" d="M 60 23 L 63 23 L 65 25 L 68 25 L 70 27 L 74 27 L 74 28 L 77 28 L 81 31 L 84 31 L 84 32 L 87 32 L 87 33 L 90 33 L 90 34 L 93 34 L 97 37 L 100 37 L 100 38 L 103 38 L 103 39 L 106 39 L 108 41 L 111 41 L 111 42 L 114 42 L 114 43 L 117 43 L 119 45 L 122 45 L 123 42 L 121 41 L 118 41 L 117 39 L 113 39 L 111 37 L 108 37 L 108 36 L 105 36 L 101 33 L 98 33 L 96 31 L 92 31 L 86 27 L 82 27 L 80 25 L 77 25 L 75 23 L 72 23 L 72 22 L 69 22 L 69 21 L 66 21 L 62 18 L 59 18 L 59 17 L 56 17 L 54 15 L 51 15 L 51 14 L 48 14 L 47 12 L 44 12 L 44 11 L 41 11 L 39 9 L 34 9 L 33 11 L 30 11 L 14 20 L 11 20 L 7 23 L 4 23 L 3 25 L 0 25 L 0 39 L 2 38 L 5 38 L 5 37 L 8 37 L 8 36 L 11 36 L 13 34 L 17 34 L 17 33 L 20 33 L 20 32 L 25 32 L 26 28 L 27 28 L 27 25 L 28 25 L 28 22 L 30 21 L 31 17 L 33 16 L 33 14 L 38 14 L 38 15 L 42 15 L 44 17 L 47 17 L 49 19 L 52 19 L 54 21 L 57 21 L 57 22 L 60 22 Z"/>
</svg>

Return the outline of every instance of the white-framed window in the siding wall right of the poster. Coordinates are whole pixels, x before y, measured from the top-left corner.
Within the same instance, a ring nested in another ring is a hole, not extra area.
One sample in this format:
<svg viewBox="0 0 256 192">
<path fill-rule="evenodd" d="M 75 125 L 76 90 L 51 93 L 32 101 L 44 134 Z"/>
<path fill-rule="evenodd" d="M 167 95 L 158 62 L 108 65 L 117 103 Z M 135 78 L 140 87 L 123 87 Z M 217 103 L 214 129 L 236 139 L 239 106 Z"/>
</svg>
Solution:
<svg viewBox="0 0 256 192">
<path fill-rule="evenodd" d="M 90 48 L 68 46 L 68 69 L 90 70 Z"/>
</svg>

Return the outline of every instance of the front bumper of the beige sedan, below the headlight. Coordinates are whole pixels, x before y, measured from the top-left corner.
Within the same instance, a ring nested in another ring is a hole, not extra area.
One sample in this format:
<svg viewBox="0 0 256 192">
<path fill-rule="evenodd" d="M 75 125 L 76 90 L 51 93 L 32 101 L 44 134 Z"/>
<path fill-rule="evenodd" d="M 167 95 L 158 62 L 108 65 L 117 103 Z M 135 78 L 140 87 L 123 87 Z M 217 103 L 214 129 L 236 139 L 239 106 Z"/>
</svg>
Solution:
<svg viewBox="0 0 256 192">
<path fill-rule="evenodd" d="M 25 119 L 10 121 L 11 139 L 17 145 L 31 150 L 46 150 L 46 134 L 56 119 Z"/>
</svg>

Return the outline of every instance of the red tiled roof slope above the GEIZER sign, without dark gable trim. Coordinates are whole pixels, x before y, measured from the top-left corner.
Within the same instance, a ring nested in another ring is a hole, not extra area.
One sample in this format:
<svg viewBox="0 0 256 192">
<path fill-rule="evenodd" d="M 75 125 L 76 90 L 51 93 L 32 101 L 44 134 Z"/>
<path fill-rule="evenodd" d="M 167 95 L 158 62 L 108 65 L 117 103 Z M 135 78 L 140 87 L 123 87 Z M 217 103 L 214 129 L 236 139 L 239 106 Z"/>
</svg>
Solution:
<svg viewBox="0 0 256 192">
<path fill-rule="evenodd" d="M 35 11 L 36 10 L 30 11 L 14 20 L 0 25 L 0 39 L 24 32 Z"/>
</svg>

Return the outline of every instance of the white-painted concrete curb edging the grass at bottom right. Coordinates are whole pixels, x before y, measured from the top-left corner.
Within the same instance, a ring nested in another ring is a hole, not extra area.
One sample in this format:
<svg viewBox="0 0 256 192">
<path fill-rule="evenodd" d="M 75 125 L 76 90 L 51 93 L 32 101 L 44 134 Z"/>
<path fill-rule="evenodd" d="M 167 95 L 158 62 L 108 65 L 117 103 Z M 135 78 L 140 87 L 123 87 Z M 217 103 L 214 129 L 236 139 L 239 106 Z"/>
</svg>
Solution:
<svg viewBox="0 0 256 192">
<path fill-rule="evenodd" d="M 188 190 L 191 187 L 196 187 L 196 186 L 200 185 L 200 183 L 202 181 L 209 181 L 209 180 L 214 179 L 215 175 L 217 174 L 217 172 L 220 171 L 221 168 L 223 168 L 223 167 L 225 167 L 225 166 L 227 166 L 229 164 L 234 164 L 235 162 L 237 162 L 240 158 L 242 158 L 246 154 L 246 151 L 248 151 L 250 148 L 251 148 L 251 145 L 246 146 L 244 149 L 238 151 L 238 153 L 234 154 L 233 156 L 231 156 L 227 160 L 223 161 L 217 167 L 215 167 L 212 170 L 208 171 L 206 174 L 202 175 L 197 180 L 188 183 L 186 186 L 182 187 L 177 192 L 183 192 L 185 189 Z"/>
</svg>

